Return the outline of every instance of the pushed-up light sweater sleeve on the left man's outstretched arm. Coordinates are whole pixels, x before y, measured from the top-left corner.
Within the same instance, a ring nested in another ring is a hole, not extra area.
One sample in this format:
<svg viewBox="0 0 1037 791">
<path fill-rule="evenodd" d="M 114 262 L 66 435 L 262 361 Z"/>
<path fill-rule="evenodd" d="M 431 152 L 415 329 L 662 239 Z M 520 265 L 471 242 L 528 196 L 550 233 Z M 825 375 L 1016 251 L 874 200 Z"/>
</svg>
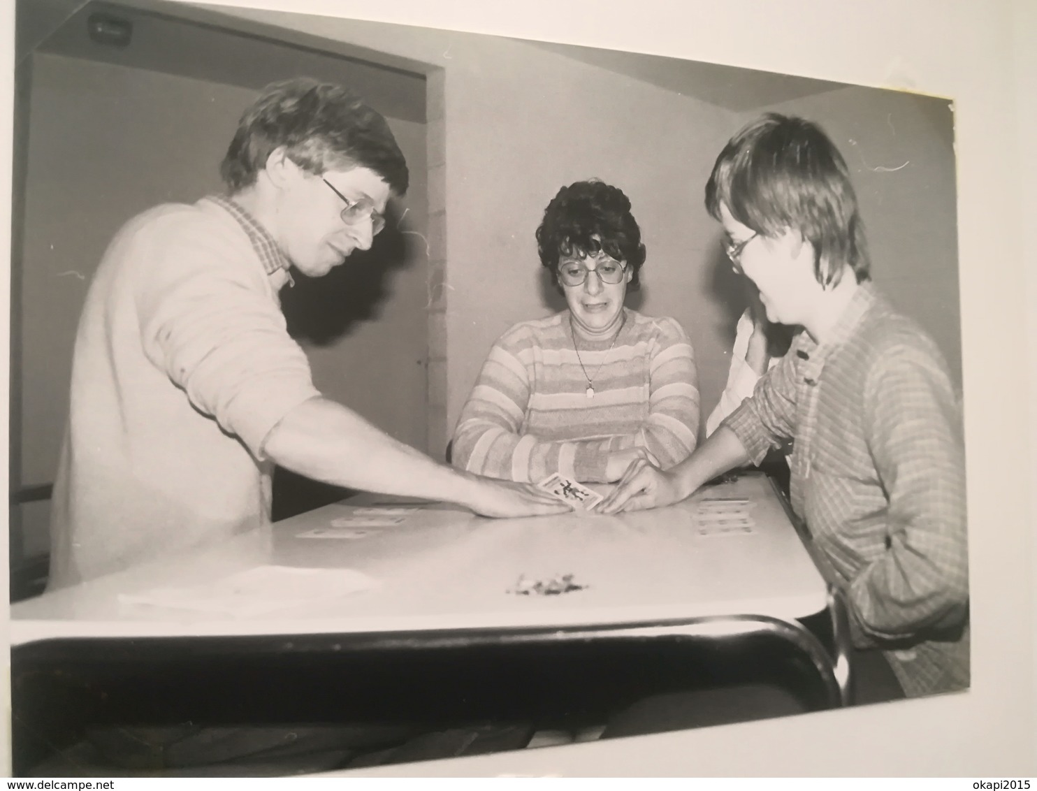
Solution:
<svg viewBox="0 0 1037 791">
<path fill-rule="evenodd" d="M 267 434 L 319 393 L 306 354 L 248 243 L 219 223 L 176 213 L 135 235 L 131 255 L 144 352 L 256 458 Z"/>
</svg>

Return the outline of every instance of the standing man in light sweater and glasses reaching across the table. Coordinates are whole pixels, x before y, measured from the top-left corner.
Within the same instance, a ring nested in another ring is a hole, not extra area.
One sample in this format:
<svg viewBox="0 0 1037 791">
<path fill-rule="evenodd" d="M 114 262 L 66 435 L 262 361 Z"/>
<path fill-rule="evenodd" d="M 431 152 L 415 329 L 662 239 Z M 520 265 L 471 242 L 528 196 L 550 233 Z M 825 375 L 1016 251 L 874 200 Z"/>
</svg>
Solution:
<svg viewBox="0 0 1037 791">
<path fill-rule="evenodd" d="M 267 526 L 274 464 L 338 486 L 489 516 L 565 510 L 531 486 L 458 473 L 313 387 L 288 336 L 288 267 L 320 277 L 385 225 L 408 169 L 385 119 L 292 80 L 246 111 L 227 196 L 131 220 L 90 285 L 56 478 L 50 588 Z"/>
</svg>

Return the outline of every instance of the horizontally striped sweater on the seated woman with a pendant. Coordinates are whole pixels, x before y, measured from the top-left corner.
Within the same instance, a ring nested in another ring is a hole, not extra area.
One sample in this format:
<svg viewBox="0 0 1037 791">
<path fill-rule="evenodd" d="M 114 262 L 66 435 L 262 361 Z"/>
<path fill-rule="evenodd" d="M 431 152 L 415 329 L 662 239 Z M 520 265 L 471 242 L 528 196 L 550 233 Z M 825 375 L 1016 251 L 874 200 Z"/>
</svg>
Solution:
<svg viewBox="0 0 1037 791">
<path fill-rule="evenodd" d="M 582 340 L 578 358 L 568 311 L 508 330 L 461 409 L 453 463 L 514 481 L 538 482 L 557 472 L 593 483 L 606 481 L 614 451 L 647 448 L 665 468 L 683 460 L 699 429 L 688 335 L 672 318 L 627 310 L 611 349 L 610 343 Z"/>
</svg>

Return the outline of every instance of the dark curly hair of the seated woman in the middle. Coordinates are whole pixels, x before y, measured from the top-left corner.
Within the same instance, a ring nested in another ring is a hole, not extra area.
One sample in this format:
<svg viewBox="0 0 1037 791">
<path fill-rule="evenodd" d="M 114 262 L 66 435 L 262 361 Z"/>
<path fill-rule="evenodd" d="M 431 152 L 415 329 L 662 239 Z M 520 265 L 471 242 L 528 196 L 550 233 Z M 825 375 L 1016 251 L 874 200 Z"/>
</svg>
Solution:
<svg viewBox="0 0 1037 791">
<path fill-rule="evenodd" d="M 618 187 L 600 179 L 577 181 L 558 191 L 536 229 L 536 248 L 540 263 L 551 272 L 552 282 L 559 289 L 561 256 L 594 255 L 598 251 L 626 265 L 630 273 L 628 290 L 637 290 L 641 284 L 645 246 L 641 244 L 641 228 L 630 214 L 629 198 Z"/>
</svg>

